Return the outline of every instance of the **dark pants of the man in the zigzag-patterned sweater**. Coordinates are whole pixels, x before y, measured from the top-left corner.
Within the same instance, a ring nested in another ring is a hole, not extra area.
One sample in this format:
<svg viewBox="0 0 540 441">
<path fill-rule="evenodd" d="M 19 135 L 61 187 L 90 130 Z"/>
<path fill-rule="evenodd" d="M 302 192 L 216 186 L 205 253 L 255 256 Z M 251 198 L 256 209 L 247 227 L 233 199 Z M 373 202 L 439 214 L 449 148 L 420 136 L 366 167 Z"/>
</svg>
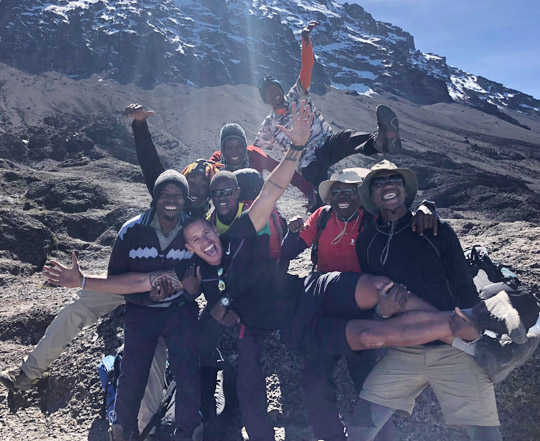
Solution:
<svg viewBox="0 0 540 441">
<path fill-rule="evenodd" d="M 115 411 L 127 439 L 138 433 L 137 415 L 157 341 L 163 337 L 176 380 L 176 436 L 191 439 L 200 423 L 199 321 L 193 302 L 168 308 L 126 304 L 124 357 Z"/>
</svg>

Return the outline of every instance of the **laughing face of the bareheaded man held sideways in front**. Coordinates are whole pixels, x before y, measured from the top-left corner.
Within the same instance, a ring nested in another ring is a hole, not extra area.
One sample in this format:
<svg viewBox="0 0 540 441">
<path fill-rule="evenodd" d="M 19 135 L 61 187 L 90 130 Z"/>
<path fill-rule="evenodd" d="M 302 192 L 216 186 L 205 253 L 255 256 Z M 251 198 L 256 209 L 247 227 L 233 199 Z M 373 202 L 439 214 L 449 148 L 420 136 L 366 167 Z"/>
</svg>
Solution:
<svg viewBox="0 0 540 441">
<path fill-rule="evenodd" d="M 199 219 L 184 227 L 186 248 L 210 265 L 221 264 L 223 247 L 216 228 Z"/>
</svg>

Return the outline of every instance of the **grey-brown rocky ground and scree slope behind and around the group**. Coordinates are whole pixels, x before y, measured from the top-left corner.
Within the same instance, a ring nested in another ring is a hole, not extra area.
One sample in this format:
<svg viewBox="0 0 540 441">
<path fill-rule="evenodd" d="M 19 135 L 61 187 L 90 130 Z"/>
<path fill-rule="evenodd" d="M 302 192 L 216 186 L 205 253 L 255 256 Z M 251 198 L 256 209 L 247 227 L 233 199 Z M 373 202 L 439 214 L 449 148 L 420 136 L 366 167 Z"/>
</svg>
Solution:
<svg viewBox="0 0 540 441">
<path fill-rule="evenodd" d="M 540 120 L 512 113 L 531 128 L 525 130 L 464 106 L 417 106 L 393 96 L 330 92 L 315 101 L 338 128 L 370 129 L 377 103 L 392 106 L 404 144 L 395 159 L 417 172 L 419 198 L 437 202 L 464 246 L 486 245 L 539 290 Z M 231 120 L 253 139 L 267 112 L 247 86 L 148 91 L 98 77 L 76 82 L 58 74 L 30 76 L 0 65 L 0 369 L 20 363 L 76 295 L 43 284 L 39 271 L 46 259 L 67 262 L 77 250 L 85 270 L 103 271 L 119 226 L 149 202 L 121 116 L 130 102 L 156 110 L 150 130 L 169 166 L 206 157 L 217 145 L 219 127 Z M 371 163 L 358 156 L 343 165 Z M 280 208 L 286 216 L 302 214 L 301 195 L 287 191 Z M 308 256 L 292 268 L 305 273 Z M 121 344 L 121 328 L 118 311 L 83 330 L 35 390 L 0 389 L 0 438 L 105 440 L 96 368 Z M 265 366 L 277 436 L 311 441 L 298 387 L 300 363 L 269 339 Z M 537 351 L 497 386 L 507 441 L 540 439 L 538 372 Z M 342 366 L 337 379 L 347 411 L 353 394 Z M 430 390 L 412 417 L 394 420 L 401 440 L 466 439 L 444 426 Z"/>
</svg>

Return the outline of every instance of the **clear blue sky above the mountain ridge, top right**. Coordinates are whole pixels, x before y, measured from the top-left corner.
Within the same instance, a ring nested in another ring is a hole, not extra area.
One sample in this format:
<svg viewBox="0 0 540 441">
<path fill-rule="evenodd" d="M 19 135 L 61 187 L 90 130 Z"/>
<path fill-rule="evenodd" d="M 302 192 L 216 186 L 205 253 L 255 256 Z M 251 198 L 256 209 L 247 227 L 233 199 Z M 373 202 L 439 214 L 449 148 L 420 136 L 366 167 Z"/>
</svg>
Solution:
<svg viewBox="0 0 540 441">
<path fill-rule="evenodd" d="M 348 1 L 411 33 L 422 52 L 540 99 L 539 0 Z"/>
</svg>

